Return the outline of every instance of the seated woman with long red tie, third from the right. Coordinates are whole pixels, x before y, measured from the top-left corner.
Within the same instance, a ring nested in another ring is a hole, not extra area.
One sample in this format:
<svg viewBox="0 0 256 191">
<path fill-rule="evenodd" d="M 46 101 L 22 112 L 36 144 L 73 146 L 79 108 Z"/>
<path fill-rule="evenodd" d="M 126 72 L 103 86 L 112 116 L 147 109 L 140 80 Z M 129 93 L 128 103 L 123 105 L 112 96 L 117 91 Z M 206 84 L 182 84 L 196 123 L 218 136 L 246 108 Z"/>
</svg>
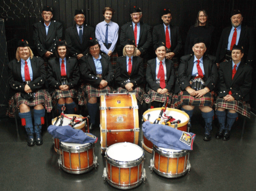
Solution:
<svg viewBox="0 0 256 191">
<path fill-rule="evenodd" d="M 172 93 L 170 92 L 174 84 L 173 61 L 166 59 L 166 44 L 158 42 L 154 45 L 157 57 L 147 62 L 146 72 L 146 92 L 144 100 L 151 103 L 151 108 L 162 107 L 163 102 L 169 97 L 168 104 L 171 103 Z"/>
</svg>

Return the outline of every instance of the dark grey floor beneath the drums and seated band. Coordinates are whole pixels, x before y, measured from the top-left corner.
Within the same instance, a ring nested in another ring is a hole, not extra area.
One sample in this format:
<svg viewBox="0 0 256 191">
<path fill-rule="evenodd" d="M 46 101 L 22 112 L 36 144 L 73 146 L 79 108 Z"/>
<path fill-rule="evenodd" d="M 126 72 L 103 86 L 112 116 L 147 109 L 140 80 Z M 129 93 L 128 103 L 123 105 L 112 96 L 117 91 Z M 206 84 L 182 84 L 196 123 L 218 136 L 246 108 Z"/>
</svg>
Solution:
<svg viewBox="0 0 256 191">
<path fill-rule="evenodd" d="M 168 179 L 150 173 L 148 166 L 152 155 L 145 152 L 145 184 L 135 191 L 241 191 L 256 190 L 256 117 L 246 120 L 243 139 L 240 118 L 231 131 L 229 141 L 214 138 L 217 132 L 215 120 L 213 139 L 203 141 L 203 119 L 195 112 L 192 118 L 192 132 L 196 134 L 193 151 L 190 153 L 190 173 L 180 178 Z M 0 119 L 0 190 L 1 191 L 113 191 L 117 190 L 103 181 L 105 158 L 101 154 L 100 131 L 94 131 L 99 138 L 95 144 L 98 168 L 88 173 L 74 175 L 59 169 L 59 156 L 53 149 L 52 136 L 43 129 L 44 143 L 41 146 L 26 145 L 26 132 L 19 125 L 17 136 L 15 120 Z M 140 132 L 141 133 L 141 132 Z M 141 146 L 141 136 L 139 136 Z"/>
</svg>

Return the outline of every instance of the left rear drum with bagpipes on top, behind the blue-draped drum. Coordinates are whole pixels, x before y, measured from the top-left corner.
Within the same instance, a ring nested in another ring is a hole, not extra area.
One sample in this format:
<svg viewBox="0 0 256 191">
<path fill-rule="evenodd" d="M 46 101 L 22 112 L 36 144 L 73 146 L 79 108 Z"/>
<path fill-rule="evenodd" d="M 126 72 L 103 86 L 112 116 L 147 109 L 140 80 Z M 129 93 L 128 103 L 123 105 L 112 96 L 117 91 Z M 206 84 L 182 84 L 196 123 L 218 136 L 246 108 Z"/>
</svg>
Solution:
<svg viewBox="0 0 256 191">
<path fill-rule="evenodd" d="M 75 114 L 65 114 L 68 118 L 73 118 L 73 116 L 76 117 L 76 120 L 82 120 L 83 116 L 82 115 L 75 115 Z M 71 121 L 71 119 L 68 118 L 63 118 L 63 124 L 62 126 L 68 125 Z M 57 120 L 57 118 L 54 118 L 52 120 L 52 125 L 54 125 L 55 121 Z M 60 125 L 60 119 L 57 121 L 56 126 Z M 74 129 L 81 129 L 83 132 L 85 132 L 85 121 L 83 121 L 82 123 L 76 124 L 74 127 Z M 60 140 L 55 138 L 54 139 L 54 150 L 56 151 L 56 153 L 60 152 Z"/>
</svg>

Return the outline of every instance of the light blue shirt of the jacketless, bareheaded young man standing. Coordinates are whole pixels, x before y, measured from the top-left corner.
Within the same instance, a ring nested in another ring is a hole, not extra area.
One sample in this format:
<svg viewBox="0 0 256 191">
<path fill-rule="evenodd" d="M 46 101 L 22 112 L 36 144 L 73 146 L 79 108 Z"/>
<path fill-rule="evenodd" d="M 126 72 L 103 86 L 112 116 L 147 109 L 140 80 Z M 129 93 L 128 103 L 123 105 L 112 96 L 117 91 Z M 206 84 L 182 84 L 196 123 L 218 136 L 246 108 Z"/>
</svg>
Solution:
<svg viewBox="0 0 256 191">
<path fill-rule="evenodd" d="M 105 35 L 106 35 L 106 28 L 108 26 L 108 44 L 111 44 L 111 47 L 107 49 L 103 43 L 105 43 Z M 114 51 L 117 44 L 118 39 L 118 30 L 119 26 L 117 23 L 110 21 L 109 23 L 102 21 L 98 23 L 95 29 L 95 37 L 99 41 L 99 44 L 101 45 L 101 51 L 108 54 L 109 51 Z"/>
</svg>

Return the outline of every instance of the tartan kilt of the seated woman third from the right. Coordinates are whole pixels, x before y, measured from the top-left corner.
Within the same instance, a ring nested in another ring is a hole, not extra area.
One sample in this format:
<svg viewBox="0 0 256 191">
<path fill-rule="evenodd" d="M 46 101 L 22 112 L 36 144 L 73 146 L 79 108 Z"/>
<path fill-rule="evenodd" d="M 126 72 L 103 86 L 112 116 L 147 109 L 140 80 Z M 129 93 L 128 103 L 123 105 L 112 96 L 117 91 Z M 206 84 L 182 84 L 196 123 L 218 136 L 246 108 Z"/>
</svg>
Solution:
<svg viewBox="0 0 256 191">
<path fill-rule="evenodd" d="M 165 94 L 159 94 L 158 92 L 154 91 L 153 89 L 150 89 L 147 94 L 144 94 L 144 101 L 146 103 L 151 103 L 153 101 L 157 101 L 157 102 L 165 102 L 166 100 L 166 96 L 169 96 L 169 100 L 168 100 L 168 106 L 171 106 L 171 100 L 172 100 L 172 96 L 173 94 L 171 92 L 167 92 Z"/>
</svg>

